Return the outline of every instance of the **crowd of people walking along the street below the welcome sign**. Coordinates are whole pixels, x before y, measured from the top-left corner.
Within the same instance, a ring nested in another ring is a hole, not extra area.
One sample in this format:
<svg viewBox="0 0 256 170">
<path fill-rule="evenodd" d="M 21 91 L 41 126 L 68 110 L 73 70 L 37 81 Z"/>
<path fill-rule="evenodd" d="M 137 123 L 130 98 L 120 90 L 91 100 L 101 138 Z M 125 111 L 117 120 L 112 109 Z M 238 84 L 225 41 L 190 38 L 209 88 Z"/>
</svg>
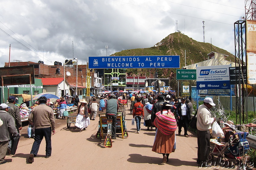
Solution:
<svg viewBox="0 0 256 170">
<path fill-rule="evenodd" d="M 130 95 L 129 95 L 130 96 Z M 120 96 L 119 96 L 120 97 Z M 97 111 L 106 110 L 106 116 L 113 119 L 112 122 L 112 139 L 116 139 L 116 117 L 120 107 L 120 102 L 116 99 L 114 93 L 103 95 L 100 102 L 92 98 L 87 102 L 82 99 L 78 103 L 78 112 L 75 126 L 80 132 L 90 125 L 90 120 L 95 120 Z M 139 94 L 134 93 L 130 97 L 131 114 L 136 122 L 136 132 L 140 133 L 141 120 L 144 120 L 144 126 L 147 130 L 153 131 L 155 128 L 156 135 L 152 151 L 163 155 L 163 163 L 169 161 L 170 153 L 176 149 L 175 131 L 178 128 L 178 135 L 181 135 L 182 127 L 184 128 L 184 137 L 188 136 L 188 122 L 193 113 L 193 105 L 189 99 L 181 98 L 180 101 L 170 94 Z M 0 164 L 4 164 L 6 151 L 10 152 L 10 135 L 19 136 L 19 130 L 22 129 L 20 121 L 19 108 L 15 105 L 15 98 L 10 96 L 8 105 L 0 105 Z M 49 107 L 50 106 L 50 107 Z M 28 121 L 35 127 L 35 141 L 33 143 L 28 162 L 33 163 L 39 150 L 40 143 L 45 138 L 46 152 L 45 158 L 51 157 L 52 146 L 51 136 L 55 134 L 55 119 L 51 105 L 47 106 L 47 99 L 40 97 L 38 106 L 34 107 L 28 117 Z M 212 98 L 205 98 L 202 105 L 197 109 L 197 163 L 199 166 L 207 167 L 208 155 L 210 152 L 210 129 L 212 123 L 216 120 L 211 116 L 210 109 L 215 106 Z M 65 99 L 60 100 L 60 117 L 66 110 Z M 247 126 L 256 127 L 250 123 Z"/>
</svg>

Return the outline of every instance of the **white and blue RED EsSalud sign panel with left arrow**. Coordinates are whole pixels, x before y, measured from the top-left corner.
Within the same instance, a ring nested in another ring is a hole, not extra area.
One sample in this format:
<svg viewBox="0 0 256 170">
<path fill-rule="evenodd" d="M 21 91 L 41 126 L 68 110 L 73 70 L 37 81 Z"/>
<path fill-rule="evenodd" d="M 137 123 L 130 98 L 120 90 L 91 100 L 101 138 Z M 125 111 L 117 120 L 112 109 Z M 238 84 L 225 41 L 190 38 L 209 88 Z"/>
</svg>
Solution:
<svg viewBox="0 0 256 170">
<path fill-rule="evenodd" d="M 196 88 L 230 89 L 229 65 L 196 67 Z"/>
</svg>

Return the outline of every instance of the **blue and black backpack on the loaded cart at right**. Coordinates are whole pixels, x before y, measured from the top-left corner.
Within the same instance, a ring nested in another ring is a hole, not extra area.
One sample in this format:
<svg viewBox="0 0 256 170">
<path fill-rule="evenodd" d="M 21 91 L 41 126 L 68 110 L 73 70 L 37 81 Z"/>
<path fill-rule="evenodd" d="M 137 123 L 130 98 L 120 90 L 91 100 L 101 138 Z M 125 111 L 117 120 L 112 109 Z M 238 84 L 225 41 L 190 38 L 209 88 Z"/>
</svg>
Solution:
<svg viewBox="0 0 256 170">
<path fill-rule="evenodd" d="M 246 139 L 246 136 L 247 136 L 246 132 L 237 133 L 237 135 L 239 137 L 239 141 L 234 146 L 231 146 L 229 150 L 234 156 L 239 157 L 247 153 L 250 147 L 249 147 L 249 142 Z"/>
</svg>

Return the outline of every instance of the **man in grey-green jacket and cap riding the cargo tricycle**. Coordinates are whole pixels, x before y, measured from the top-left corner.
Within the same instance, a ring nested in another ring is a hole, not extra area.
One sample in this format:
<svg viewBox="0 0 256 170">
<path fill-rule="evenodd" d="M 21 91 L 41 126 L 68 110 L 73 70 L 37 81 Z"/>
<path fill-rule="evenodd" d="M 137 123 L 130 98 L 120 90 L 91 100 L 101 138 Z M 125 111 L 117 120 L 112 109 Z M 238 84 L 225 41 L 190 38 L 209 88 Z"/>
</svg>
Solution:
<svg viewBox="0 0 256 170">
<path fill-rule="evenodd" d="M 112 122 L 112 139 L 116 139 L 116 115 L 119 107 L 118 101 L 115 99 L 115 94 L 110 94 L 110 99 L 107 101 L 106 116 L 111 116 Z"/>
</svg>

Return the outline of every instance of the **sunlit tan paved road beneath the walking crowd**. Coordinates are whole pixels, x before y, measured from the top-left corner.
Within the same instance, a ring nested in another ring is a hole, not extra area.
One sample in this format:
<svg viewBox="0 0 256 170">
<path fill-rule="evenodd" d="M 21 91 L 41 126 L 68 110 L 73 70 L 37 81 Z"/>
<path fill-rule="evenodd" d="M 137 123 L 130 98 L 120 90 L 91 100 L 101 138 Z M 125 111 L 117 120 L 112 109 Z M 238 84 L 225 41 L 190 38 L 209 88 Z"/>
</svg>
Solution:
<svg viewBox="0 0 256 170">
<path fill-rule="evenodd" d="M 112 148 L 104 148 L 104 140 L 95 138 L 99 117 L 91 121 L 91 125 L 83 132 L 79 132 L 73 124 L 67 129 L 66 120 L 58 120 L 60 126 L 52 136 L 50 158 L 44 158 L 43 140 L 34 163 L 28 164 L 27 158 L 34 140 L 26 138 L 20 140 L 16 155 L 6 156 L 8 162 L 0 165 L 0 169 L 198 169 L 195 135 L 188 132 L 191 137 L 187 138 L 179 136 L 176 131 L 177 149 L 170 154 L 169 162 L 163 164 L 162 154 L 151 151 L 155 131 L 148 131 L 142 121 L 140 134 L 135 133 L 136 125 L 131 125 L 129 107 L 125 108 L 129 137 L 117 137 L 113 140 Z M 26 137 L 24 134 L 22 136 Z"/>
</svg>

